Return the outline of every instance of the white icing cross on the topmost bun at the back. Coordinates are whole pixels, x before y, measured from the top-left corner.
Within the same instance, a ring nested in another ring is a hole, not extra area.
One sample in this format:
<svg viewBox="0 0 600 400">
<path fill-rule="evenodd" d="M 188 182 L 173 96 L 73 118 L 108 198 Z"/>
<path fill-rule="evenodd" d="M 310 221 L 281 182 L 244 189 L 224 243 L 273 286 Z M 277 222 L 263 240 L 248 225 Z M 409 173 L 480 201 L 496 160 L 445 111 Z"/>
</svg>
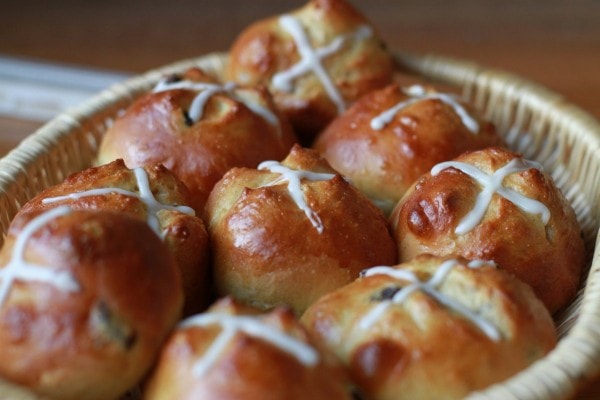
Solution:
<svg viewBox="0 0 600 400">
<path fill-rule="evenodd" d="M 300 54 L 300 61 L 289 69 L 276 73 L 272 80 L 273 87 L 283 92 L 291 92 L 293 89 L 292 81 L 312 71 L 321 81 L 331 101 L 335 103 L 338 113 L 344 112 L 346 109 L 344 98 L 332 82 L 323 64 L 321 64 L 321 60 L 339 51 L 348 39 L 363 40 L 369 38 L 373 34 L 371 28 L 363 25 L 353 34 L 338 36 L 329 45 L 315 49 L 310 44 L 302 24 L 296 18 L 291 15 L 283 15 L 279 18 L 279 24 L 292 35 Z"/>
</svg>

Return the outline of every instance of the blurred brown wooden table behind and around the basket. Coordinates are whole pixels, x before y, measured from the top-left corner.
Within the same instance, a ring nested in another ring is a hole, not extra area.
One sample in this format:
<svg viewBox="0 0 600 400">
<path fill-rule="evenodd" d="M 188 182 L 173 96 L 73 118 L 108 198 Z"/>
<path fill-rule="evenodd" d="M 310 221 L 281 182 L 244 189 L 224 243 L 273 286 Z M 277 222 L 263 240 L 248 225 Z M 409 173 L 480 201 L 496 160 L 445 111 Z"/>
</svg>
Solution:
<svg viewBox="0 0 600 400">
<path fill-rule="evenodd" d="M 139 73 L 178 59 L 227 50 L 252 21 L 304 2 L 5 3 L 0 14 L 0 54 Z M 467 58 L 522 75 L 600 119 L 600 1 L 353 3 L 379 28 L 392 49 Z M 0 117 L 0 154 L 39 125 Z M 600 381 L 578 399 L 600 399 Z"/>
</svg>

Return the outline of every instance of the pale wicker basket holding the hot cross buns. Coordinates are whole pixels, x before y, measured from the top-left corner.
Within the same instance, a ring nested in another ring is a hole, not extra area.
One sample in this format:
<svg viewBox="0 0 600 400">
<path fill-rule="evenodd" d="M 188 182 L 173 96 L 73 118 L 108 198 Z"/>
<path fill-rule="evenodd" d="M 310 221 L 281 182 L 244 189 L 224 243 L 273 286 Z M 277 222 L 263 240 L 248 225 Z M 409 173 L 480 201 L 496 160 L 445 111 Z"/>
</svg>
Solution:
<svg viewBox="0 0 600 400">
<path fill-rule="evenodd" d="M 573 205 L 589 272 L 577 299 L 556 317 L 561 340 L 547 357 L 474 399 L 565 399 L 600 373 L 600 125 L 560 96 L 517 76 L 434 55 L 396 55 L 398 67 L 461 90 L 493 121 L 509 146 L 541 162 Z M 0 160 L 0 228 L 40 190 L 95 160 L 115 116 L 166 73 L 200 66 L 215 75 L 227 62 L 211 54 L 117 84 L 59 115 Z M 0 239 L 0 244 L 3 239 Z"/>
</svg>

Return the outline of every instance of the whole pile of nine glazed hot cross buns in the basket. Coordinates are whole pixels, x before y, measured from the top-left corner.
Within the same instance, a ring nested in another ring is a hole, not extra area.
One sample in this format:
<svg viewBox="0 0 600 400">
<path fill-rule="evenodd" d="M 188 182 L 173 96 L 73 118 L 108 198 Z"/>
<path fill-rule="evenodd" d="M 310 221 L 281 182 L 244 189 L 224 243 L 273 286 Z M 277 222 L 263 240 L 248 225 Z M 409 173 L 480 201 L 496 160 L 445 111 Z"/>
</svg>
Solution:
<svg viewBox="0 0 600 400">
<path fill-rule="evenodd" d="M 165 76 L 14 218 L 0 390 L 454 399 L 552 350 L 578 221 L 471 104 L 344 0 L 257 21 L 221 72 Z"/>
</svg>

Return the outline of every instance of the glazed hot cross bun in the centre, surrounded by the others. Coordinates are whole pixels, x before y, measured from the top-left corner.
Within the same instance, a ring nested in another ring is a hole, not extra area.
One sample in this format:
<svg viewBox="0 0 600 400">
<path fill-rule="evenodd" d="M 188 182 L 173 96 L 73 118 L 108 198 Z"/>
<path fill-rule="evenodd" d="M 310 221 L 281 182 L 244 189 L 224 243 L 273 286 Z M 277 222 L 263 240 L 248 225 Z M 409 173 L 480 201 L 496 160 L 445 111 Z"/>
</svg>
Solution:
<svg viewBox="0 0 600 400">
<path fill-rule="evenodd" d="M 314 150 L 235 168 L 206 207 L 217 294 L 298 314 L 366 267 L 394 263 L 381 211 Z"/>
</svg>

